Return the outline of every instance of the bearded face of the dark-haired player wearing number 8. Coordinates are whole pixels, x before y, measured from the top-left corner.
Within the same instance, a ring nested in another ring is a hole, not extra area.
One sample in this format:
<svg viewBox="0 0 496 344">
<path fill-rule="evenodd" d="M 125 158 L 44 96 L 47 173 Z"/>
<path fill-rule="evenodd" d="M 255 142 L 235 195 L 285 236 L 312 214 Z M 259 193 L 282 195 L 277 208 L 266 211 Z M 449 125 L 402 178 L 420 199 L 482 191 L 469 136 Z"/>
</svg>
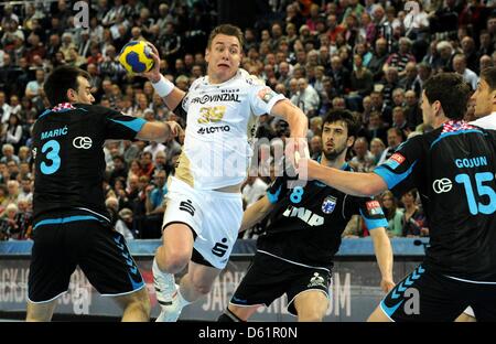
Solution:
<svg viewBox="0 0 496 344">
<path fill-rule="evenodd" d="M 348 138 L 346 123 L 342 121 L 324 123 L 322 144 L 322 151 L 327 160 L 336 160 L 347 148 L 352 147 L 353 138 Z"/>
</svg>

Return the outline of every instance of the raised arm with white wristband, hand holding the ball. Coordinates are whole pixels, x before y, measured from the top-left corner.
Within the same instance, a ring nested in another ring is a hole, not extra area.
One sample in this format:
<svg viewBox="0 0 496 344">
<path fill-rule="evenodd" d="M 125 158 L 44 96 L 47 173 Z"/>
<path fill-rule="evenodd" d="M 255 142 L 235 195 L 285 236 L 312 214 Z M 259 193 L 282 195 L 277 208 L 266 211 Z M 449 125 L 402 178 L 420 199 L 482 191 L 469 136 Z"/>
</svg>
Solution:
<svg viewBox="0 0 496 344">
<path fill-rule="evenodd" d="M 162 74 L 160 74 L 160 55 L 157 47 L 149 43 L 153 58 L 153 68 L 150 72 L 142 73 L 141 75 L 147 77 L 151 83 L 155 92 L 163 99 L 169 109 L 174 110 L 186 94 L 184 90 L 179 89 L 173 83 L 168 80 Z"/>
</svg>

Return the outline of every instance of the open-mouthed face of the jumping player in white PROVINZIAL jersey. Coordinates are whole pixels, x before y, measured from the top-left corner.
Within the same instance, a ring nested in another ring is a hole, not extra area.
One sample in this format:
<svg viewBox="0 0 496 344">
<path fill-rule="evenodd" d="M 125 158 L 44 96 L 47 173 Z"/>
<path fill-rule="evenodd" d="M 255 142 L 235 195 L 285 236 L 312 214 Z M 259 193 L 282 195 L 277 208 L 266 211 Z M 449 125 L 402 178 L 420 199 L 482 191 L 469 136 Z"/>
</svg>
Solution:
<svg viewBox="0 0 496 344">
<path fill-rule="evenodd" d="M 241 46 L 236 36 L 216 35 L 205 54 L 211 82 L 220 84 L 235 76 L 241 63 Z"/>
</svg>

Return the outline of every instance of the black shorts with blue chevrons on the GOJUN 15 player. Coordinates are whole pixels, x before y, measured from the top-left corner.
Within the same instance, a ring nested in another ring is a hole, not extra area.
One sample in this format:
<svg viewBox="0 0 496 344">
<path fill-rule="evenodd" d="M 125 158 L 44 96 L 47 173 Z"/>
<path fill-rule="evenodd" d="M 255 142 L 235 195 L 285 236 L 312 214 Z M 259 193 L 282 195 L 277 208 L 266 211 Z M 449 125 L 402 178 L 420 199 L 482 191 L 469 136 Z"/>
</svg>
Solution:
<svg viewBox="0 0 496 344">
<path fill-rule="evenodd" d="M 496 284 L 456 280 L 417 267 L 380 302 L 392 321 L 454 321 L 471 305 L 477 321 L 496 321 Z"/>
</svg>

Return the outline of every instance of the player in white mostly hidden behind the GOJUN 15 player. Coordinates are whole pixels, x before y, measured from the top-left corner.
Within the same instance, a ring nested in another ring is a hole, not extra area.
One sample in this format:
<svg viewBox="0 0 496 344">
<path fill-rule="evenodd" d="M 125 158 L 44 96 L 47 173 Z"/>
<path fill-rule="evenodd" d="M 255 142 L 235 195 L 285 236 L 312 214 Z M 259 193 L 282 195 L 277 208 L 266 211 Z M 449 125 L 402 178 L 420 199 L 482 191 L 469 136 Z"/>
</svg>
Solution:
<svg viewBox="0 0 496 344">
<path fill-rule="evenodd" d="M 471 100 L 475 100 L 475 117 L 477 117 L 471 125 L 496 130 L 496 67 L 485 68 L 481 72 L 477 89 Z M 471 307 L 456 319 L 456 322 L 474 321 L 475 314 Z"/>
</svg>

